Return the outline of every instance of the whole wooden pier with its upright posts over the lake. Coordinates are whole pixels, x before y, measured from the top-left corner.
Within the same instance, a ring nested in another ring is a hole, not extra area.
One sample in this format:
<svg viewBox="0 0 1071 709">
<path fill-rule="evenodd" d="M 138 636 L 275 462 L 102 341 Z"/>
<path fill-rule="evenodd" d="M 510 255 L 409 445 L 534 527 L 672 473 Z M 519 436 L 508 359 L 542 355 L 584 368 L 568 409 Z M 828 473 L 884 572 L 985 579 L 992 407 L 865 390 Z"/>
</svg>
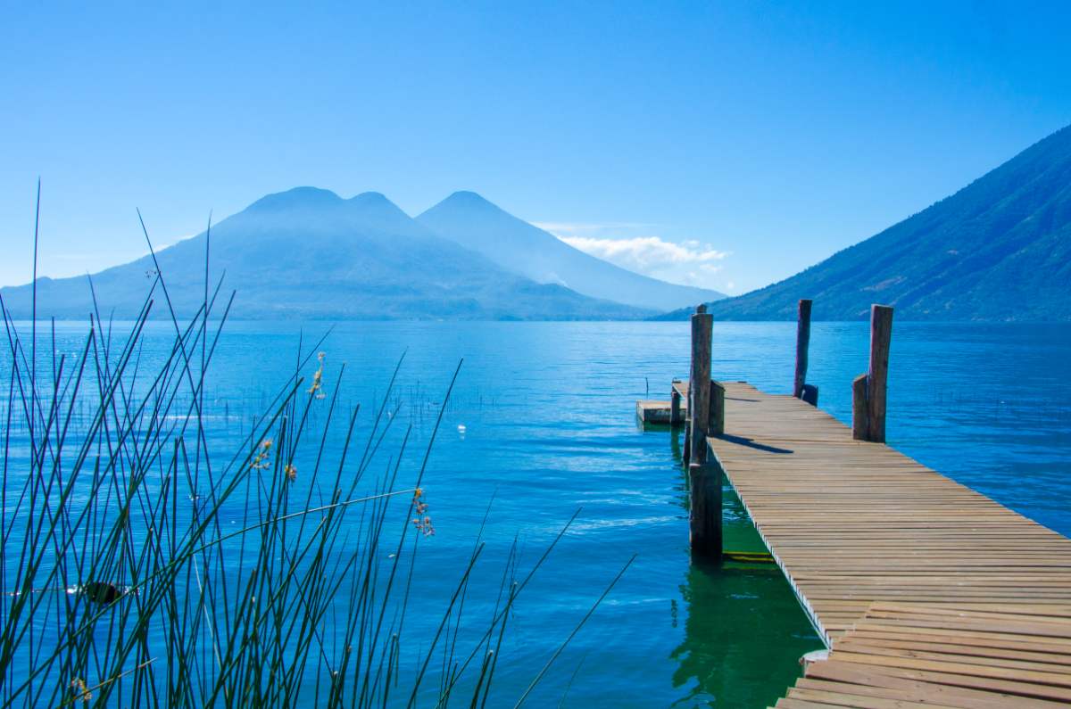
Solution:
<svg viewBox="0 0 1071 709">
<path fill-rule="evenodd" d="M 891 325 L 875 306 L 850 428 L 804 401 L 799 366 L 796 395 L 775 395 L 707 386 L 709 359 L 693 360 L 674 391 L 723 402 L 693 399 L 679 422 L 706 443 L 685 446 L 692 553 L 722 556 L 724 480 L 831 650 L 779 707 L 1068 706 L 1071 540 L 885 444 Z"/>
</svg>

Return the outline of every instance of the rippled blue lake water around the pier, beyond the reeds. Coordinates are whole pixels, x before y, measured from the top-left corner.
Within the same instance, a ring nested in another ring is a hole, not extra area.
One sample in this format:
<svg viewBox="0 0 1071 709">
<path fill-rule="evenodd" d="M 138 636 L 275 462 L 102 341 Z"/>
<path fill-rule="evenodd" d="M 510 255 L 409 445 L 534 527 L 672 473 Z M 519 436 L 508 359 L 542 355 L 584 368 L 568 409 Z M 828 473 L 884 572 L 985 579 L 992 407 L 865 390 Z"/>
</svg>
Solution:
<svg viewBox="0 0 1071 709">
<path fill-rule="evenodd" d="M 307 349 L 326 329 L 225 328 L 209 387 L 209 413 L 222 422 L 213 446 L 241 440 L 243 421 L 293 371 L 299 336 Z M 60 326 L 58 346 L 74 351 L 81 331 Z M 171 334 L 152 323 L 147 343 L 164 350 Z M 868 337 L 864 322 L 813 328 L 809 381 L 819 388 L 819 406 L 845 422 Z M 795 323 L 715 323 L 713 376 L 785 392 L 794 347 Z M 524 571 L 580 510 L 517 600 L 495 706 L 512 706 L 633 555 L 530 706 L 765 707 L 798 676 L 799 657 L 821 646 L 774 567 L 690 561 L 680 441 L 665 428 L 643 431 L 635 419 L 637 398 L 667 398 L 670 379 L 687 376 L 688 323 L 344 323 L 318 349 L 327 353 L 326 390 L 341 387 L 340 399 L 363 403 L 364 411 L 382 399 L 405 353 L 392 404 L 418 441 L 464 359 L 423 485 L 436 533 L 421 542 L 427 561 L 418 588 L 431 609 L 456 582 L 485 514 L 492 572 L 514 539 Z M 1066 326 L 896 322 L 888 440 L 1071 533 L 1068 361 Z M 360 414 L 359 432 L 371 420 Z M 403 477 L 419 465 L 419 452 L 409 457 Z M 727 547 L 761 548 L 738 504 L 730 500 L 725 513 Z M 498 593 L 492 572 L 470 590 L 474 606 Z M 413 622 L 418 636 L 429 637 L 438 616 L 414 614 Z"/>
</svg>

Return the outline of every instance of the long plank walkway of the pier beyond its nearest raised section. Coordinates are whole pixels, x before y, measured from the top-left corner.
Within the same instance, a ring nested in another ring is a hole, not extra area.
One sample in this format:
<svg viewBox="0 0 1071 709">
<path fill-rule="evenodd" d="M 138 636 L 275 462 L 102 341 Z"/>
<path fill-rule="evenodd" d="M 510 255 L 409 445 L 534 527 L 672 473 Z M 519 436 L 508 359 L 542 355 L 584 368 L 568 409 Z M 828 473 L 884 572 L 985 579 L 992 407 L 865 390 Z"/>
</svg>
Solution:
<svg viewBox="0 0 1071 709">
<path fill-rule="evenodd" d="M 798 398 L 723 386 L 712 462 L 827 644 L 875 602 L 1071 612 L 1071 540 Z"/>
</svg>

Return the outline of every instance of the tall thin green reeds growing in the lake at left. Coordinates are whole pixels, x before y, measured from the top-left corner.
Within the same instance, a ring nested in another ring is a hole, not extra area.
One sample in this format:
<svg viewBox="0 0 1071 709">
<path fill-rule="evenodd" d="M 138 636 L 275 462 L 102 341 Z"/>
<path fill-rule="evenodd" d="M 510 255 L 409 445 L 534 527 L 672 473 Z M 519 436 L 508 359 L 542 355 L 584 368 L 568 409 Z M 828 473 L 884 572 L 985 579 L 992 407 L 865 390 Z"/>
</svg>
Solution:
<svg viewBox="0 0 1071 709">
<path fill-rule="evenodd" d="M 569 524 L 527 573 L 514 544 L 476 612 L 473 540 L 432 607 L 413 588 L 450 391 L 421 451 L 411 423 L 389 446 L 395 368 L 359 441 L 345 367 L 327 369 L 322 341 L 299 345 L 240 449 L 214 450 L 205 391 L 230 301 L 207 273 L 184 322 L 159 271 L 122 332 L 94 303 L 75 356 L 0 303 L 0 707 L 486 706 L 511 609 Z M 174 328 L 162 361 L 142 343 L 157 301 Z M 414 613 L 436 614 L 431 637 L 412 637 Z"/>
</svg>

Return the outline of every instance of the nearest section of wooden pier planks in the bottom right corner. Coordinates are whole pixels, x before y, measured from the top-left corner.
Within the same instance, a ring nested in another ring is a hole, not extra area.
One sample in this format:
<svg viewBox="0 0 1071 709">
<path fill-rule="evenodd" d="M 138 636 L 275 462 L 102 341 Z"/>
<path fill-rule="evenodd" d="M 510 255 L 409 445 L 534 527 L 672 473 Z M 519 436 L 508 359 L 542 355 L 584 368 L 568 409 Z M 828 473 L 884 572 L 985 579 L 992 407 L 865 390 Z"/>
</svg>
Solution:
<svg viewBox="0 0 1071 709">
<path fill-rule="evenodd" d="M 778 707 L 1047 709 L 1071 704 L 1071 607 L 877 602 Z"/>
</svg>

